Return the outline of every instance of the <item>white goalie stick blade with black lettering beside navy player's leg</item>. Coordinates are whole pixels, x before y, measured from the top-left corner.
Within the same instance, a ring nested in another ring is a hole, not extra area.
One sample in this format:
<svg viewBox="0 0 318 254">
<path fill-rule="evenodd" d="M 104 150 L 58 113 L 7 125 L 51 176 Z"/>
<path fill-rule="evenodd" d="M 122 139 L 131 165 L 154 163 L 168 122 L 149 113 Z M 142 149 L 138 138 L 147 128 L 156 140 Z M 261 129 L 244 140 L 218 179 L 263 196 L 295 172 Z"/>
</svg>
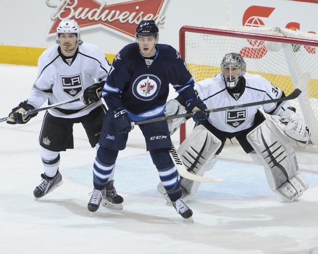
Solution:
<svg viewBox="0 0 318 254">
<path fill-rule="evenodd" d="M 198 181 L 198 182 L 207 182 L 207 183 L 222 183 L 223 182 L 223 179 L 201 177 L 201 176 L 196 176 L 188 172 L 182 160 L 180 159 L 179 155 L 177 154 L 177 151 L 174 148 L 174 144 L 172 143 L 172 141 L 171 141 L 171 144 L 172 144 L 172 148 L 169 149 L 169 155 L 181 177 L 184 177 L 186 179 L 193 180 L 193 181 Z"/>
</svg>

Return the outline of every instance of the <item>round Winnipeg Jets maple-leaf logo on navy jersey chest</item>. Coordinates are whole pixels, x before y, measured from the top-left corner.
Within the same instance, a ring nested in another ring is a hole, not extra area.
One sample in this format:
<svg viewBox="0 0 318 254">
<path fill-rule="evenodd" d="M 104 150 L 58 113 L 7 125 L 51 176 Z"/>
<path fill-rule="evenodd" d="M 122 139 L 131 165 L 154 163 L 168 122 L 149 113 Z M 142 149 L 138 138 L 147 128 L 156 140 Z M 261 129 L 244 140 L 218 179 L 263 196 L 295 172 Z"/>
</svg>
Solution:
<svg viewBox="0 0 318 254">
<path fill-rule="evenodd" d="M 141 75 L 133 83 L 133 94 L 143 101 L 150 101 L 156 97 L 160 90 L 161 80 L 152 74 Z"/>
</svg>

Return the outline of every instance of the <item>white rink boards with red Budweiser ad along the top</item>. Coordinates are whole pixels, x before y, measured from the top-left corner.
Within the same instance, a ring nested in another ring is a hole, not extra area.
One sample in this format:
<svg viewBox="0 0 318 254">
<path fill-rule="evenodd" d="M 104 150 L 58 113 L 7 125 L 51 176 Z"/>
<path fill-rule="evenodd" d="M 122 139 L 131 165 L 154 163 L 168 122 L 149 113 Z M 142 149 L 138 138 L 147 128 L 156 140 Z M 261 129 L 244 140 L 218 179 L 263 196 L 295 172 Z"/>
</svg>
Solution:
<svg viewBox="0 0 318 254">
<path fill-rule="evenodd" d="M 178 49 L 182 25 L 294 26 L 318 32 L 317 11 L 318 3 L 293 0 L 2 0 L 0 45 L 48 48 L 55 43 L 49 31 L 68 17 L 79 22 L 84 41 L 115 54 L 134 41 L 141 18 L 155 16 L 159 42 Z"/>
</svg>

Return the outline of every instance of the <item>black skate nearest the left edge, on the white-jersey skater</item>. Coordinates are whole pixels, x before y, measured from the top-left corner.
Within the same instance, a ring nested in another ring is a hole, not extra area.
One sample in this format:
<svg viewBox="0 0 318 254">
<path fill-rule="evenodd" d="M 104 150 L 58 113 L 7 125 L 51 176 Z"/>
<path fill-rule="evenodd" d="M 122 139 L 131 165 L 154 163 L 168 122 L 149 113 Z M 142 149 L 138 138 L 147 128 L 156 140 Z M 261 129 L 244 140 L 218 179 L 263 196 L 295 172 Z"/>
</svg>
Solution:
<svg viewBox="0 0 318 254">
<path fill-rule="evenodd" d="M 41 183 L 35 187 L 33 191 L 33 195 L 35 196 L 35 200 L 41 198 L 42 196 L 46 195 L 47 193 L 53 191 L 54 189 L 58 188 L 60 185 L 63 184 L 62 176 L 58 171 L 54 177 L 47 177 L 44 174 L 41 174 L 42 181 Z"/>
</svg>

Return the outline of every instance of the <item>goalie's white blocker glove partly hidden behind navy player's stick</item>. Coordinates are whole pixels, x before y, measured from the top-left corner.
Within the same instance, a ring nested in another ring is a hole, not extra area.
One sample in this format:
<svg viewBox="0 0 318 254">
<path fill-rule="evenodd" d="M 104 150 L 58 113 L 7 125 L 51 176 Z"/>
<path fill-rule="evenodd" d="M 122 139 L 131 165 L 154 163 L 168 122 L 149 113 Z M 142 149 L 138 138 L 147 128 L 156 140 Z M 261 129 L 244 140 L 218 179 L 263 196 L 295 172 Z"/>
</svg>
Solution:
<svg viewBox="0 0 318 254">
<path fill-rule="evenodd" d="M 165 106 L 165 116 L 172 116 L 172 115 L 179 115 L 185 114 L 187 111 L 185 108 L 177 101 L 177 100 L 169 100 Z M 182 123 L 185 123 L 185 118 L 177 118 L 177 119 L 170 119 L 168 120 L 168 127 L 170 135 L 172 135 Z"/>
</svg>

